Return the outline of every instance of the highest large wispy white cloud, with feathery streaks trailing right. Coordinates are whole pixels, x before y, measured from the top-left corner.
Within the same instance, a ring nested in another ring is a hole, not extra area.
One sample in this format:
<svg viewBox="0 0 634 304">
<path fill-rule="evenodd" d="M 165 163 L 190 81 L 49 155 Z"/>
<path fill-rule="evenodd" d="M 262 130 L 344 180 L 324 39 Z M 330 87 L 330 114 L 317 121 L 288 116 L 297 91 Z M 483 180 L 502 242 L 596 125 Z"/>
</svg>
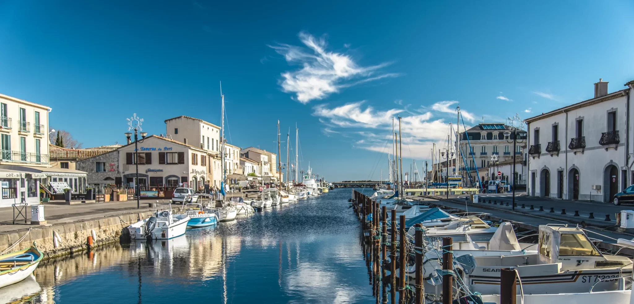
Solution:
<svg viewBox="0 0 634 304">
<path fill-rule="evenodd" d="M 328 51 L 328 44 L 323 37 L 316 38 L 300 32 L 299 39 L 304 46 L 269 45 L 283 55 L 289 64 L 301 65 L 299 70 L 283 72 L 280 80 L 282 91 L 294 93 L 298 102 L 306 104 L 311 100 L 326 98 L 342 88 L 399 76 L 396 73 L 379 72 L 389 63 L 362 67 L 349 55 Z"/>
</svg>

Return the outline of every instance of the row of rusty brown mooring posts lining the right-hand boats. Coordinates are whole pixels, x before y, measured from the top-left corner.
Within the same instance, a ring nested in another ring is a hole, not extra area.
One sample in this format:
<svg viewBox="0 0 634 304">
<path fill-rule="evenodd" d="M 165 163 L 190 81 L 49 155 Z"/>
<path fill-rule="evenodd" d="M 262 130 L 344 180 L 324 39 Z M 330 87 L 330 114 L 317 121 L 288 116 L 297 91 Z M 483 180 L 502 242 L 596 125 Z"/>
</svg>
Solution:
<svg viewBox="0 0 634 304">
<path fill-rule="evenodd" d="M 353 190 L 352 203 L 354 212 L 361 221 L 363 230 L 364 258 L 368 266 L 372 295 L 376 303 L 391 304 L 423 304 L 425 290 L 423 282 L 423 229 L 422 224 L 416 224 L 414 246 L 408 246 L 406 238 L 405 216 L 399 216 L 399 224 L 396 224 L 396 210 L 391 210 L 391 233 L 387 233 L 387 210 L 385 206 L 379 209 L 379 203 L 370 197 Z M 388 239 L 389 237 L 389 239 Z M 398 237 L 398 241 L 397 241 Z M 443 237 L 443 295 L 442 303 L 450 304 L 453 300 L 453 239 Z M 408 252 L 413 251 L 413 253 Z M 387 260 L 389 254 L 389 261 Z M 413 290 L 406 281 L 408 257 L 415 259 L 415 283 Z M 386 275 L 386 268 L 390 274 Z M 396 274 L 398 269 L 398 277 Z M 515 304 L 516 299 L 516 272 L 511 269 L 501 270 L 500 277 L 500 303 Z M 389 297 L 387 287 L 389 286 Z M 398 301 L 396 293 L 398 291 Z M 430 299 L 432 301 L 436 299 Z"/>
</svg>

